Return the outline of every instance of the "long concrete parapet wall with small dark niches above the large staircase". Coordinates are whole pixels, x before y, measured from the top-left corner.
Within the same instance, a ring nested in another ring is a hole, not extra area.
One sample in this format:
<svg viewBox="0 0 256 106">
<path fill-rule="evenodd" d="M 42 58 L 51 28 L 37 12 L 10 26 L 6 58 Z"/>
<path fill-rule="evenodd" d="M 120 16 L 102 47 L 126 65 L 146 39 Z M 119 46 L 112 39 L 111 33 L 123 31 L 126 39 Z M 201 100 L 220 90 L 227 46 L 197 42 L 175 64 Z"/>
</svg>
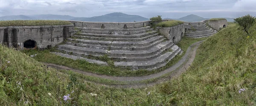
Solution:
<svg viewBox="0 0 256 106">
<path fill-rule="evenodd" d="M 84 27 L 84 28 L 140 28 L 150 25 L 150 21 L 142 22 L 82 22 L 82 21 L 70 21 L 75 25 L 75 27 Z"/>
</svg>

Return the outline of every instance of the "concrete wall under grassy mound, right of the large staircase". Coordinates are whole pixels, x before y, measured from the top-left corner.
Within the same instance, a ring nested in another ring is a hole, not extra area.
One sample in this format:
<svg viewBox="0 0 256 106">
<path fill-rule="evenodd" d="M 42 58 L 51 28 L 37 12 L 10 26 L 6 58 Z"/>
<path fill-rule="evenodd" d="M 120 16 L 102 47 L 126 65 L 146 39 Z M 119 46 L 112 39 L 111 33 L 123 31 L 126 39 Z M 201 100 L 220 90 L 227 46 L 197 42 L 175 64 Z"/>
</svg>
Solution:
<svg viewBox="0 0 256 106">
<path fill-rule="evenodd" d="M 175 44 L 177 44 L 185 34 L 184 24 L 173 27 L 157 27 L 157 30 L 160 31 L 161 35 L 166 36 L 168 40 L 175 38 Z"/>
</svg>

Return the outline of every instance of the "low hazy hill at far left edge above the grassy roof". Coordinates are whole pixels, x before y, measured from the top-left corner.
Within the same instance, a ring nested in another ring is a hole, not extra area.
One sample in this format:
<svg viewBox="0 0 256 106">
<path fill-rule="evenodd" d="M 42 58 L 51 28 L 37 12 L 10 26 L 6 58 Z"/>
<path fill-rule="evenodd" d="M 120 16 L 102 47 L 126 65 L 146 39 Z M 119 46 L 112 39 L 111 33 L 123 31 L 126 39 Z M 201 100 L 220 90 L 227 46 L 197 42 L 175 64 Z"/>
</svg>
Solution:
<svg viewBox="0 0 256 106">
<path fill-rule="evenodd" d="M 25 15 L 10 15 L 10 16 L 0 17 L 0 20 L 33 20 L 33 19 Z"/>
</svg>

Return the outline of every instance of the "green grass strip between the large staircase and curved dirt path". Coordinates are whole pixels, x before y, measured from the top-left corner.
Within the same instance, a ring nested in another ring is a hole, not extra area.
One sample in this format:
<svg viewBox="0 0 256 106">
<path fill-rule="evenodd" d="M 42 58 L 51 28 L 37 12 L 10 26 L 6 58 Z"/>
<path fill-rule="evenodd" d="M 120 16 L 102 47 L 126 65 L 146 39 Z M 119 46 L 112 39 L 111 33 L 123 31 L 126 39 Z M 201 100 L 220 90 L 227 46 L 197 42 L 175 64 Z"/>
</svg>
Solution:
<svg viewBox="0 0 256 106">
<path fill-rule="evenodd" d="M 205 39 L 205 38 L 203 38 Z M 177 45 L 184 51 L 183 55 L 186 53 L 187 48 L 200 40 L 203 39 L 192 39 L 192 38 L 186 38 L 184 37 Z M 94 57 L 94 56 L 87 56 L 89 59 L 98 59 L 101 61 L 107 62 L 108 66 L 103 66 L 103 65 L 98 65 L 98 64 L 92 64 L 88 63 L 85 60 L 73 60 L 65 57 L 61 57 L 55 54 L 52 54 L 50 52 L 55 52 L 55 49 L 51 50 L 24 50 L 23 52 L 26 53 L 28 56 L 33 55 L 33 54 L 38 54 L 37 56 L 34 57 L 35 60 L 40 61 L 40 62 L 46 62 L 46 63 L 52 63 L 52 64 L 58 64 L 58 65 L 63 65 L 67 66 L 73 69 L 77 70 L 82 70 L 85 72 L 91 72 L 91 73 L 98 73 L 98 74 L 104 74 L 104 75 L 111 75 L 111 76 L 143 76 L 143 75 L 150 75 L 153 73 L 157 73 L 160 71 L 163 71 L 175 63 L 179 61 L 183 55 L 178 55 L 172 61 L 170 61 L 165 67 L 162 67 L 157 70 L 130 70 L 129 68 L 122 68 L 122 67 L 114 67 L 113 66 L 113 61 L 108 58 L 107 55 L 105 56 L 100 56 L 100 57 Z M 59 52 L 57 50 L 57 52 Z M 120 71 L 122 70 L 122 71 Z"/>
</svg>

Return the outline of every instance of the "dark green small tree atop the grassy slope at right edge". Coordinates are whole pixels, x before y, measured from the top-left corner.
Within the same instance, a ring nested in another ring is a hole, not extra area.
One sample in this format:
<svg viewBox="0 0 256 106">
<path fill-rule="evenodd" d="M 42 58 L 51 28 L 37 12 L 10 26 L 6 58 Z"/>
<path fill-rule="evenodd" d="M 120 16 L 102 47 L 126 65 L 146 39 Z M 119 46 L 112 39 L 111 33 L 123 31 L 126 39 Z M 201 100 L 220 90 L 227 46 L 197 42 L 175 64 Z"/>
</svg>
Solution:
<svg viewBox="0 0 256 106">
<path fill-rule="evenodd" d="M 235 23 L 243 27 L 244 31 L 247 34 L 249 34 L 248 30 L 250 29 L 250 27 L 252 27 L 255 24 L 256 18 L 248 14 L 243 17 L 238 17 L 234 20 L 235 20 Z"/>
</svg>

